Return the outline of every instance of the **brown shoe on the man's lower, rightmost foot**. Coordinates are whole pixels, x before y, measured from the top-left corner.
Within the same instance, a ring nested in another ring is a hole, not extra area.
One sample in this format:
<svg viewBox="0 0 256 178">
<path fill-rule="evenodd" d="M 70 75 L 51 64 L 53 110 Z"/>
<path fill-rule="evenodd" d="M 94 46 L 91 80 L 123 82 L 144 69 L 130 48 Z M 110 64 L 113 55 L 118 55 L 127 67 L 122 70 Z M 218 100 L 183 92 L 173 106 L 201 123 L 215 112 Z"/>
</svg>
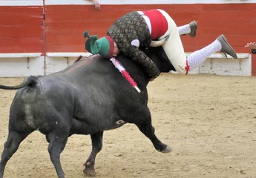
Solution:
<svg viewBox="0 0 256 178">
<path fill-rule="evenodd" d="M 228 58 L 228 56 L 226 56 L 226 54 L 229 54 L 234 59 L 237 59 L 237 54 L 235 53 L 233 47 L 229 44 L 228 40 L 226 39 L 226 37 L 224 35 L 218 36 L 217 40 L 221 44 L 220 52 L 223 53 L 223 55 L 226 57 L 226 59 Z"/>
</svg>

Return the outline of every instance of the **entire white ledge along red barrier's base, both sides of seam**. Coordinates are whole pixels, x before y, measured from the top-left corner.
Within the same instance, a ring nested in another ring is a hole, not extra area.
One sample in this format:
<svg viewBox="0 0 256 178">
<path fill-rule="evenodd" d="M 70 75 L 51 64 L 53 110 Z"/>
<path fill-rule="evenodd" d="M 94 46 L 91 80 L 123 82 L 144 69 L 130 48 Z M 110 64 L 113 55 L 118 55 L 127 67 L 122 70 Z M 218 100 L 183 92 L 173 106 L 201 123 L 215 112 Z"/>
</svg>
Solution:
<svg viewBox="0 0 256 178">
<path fill-rule="evenodd" d="M 190 53 L 186 53 L 188 56 Z M 72 65 L 78 56 L 86 58 L 91 53 L 41 53 L 32 54 L 1 54 L 0 77 L 38 76 L 58 72 Z M 205 62 L 188 74 L 209 73 L 225 76 L 251 76 L 252 55 L 237 53 L 238 59 L 223 59 L 220 53 L 209 56 Z M 173 72 L 172 72 L 173 73 Z"/>
</svg>

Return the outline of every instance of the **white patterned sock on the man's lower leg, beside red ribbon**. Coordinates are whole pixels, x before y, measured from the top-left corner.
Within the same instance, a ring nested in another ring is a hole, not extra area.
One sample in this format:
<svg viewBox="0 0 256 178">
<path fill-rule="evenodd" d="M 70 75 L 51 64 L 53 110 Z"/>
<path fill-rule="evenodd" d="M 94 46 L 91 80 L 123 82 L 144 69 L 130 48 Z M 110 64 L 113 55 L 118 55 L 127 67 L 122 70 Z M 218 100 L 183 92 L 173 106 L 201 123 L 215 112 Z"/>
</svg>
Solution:
<svg viewBox="0 0 256 178">
<path fill-rule="evenodd" d="M 203 47 L 201 50 L 194 51 L 191 55 L 188 56 L 188 65 L 190 70 L 193 70 L 195 67 L 198 67 L 202 62 L 204 62 L 207 57 L 211 54 L 219 52 L 221 50 L 221 44 L 216 39 L 214 42 L 209 44 L 206 47 Z"/>
</svg>

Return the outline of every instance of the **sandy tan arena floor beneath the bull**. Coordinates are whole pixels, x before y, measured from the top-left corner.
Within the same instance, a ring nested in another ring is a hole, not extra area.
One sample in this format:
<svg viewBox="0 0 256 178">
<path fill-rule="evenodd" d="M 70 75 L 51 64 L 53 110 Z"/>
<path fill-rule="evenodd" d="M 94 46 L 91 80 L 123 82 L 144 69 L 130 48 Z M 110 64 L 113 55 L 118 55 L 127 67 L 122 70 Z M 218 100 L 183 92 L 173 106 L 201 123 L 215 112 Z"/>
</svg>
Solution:
<svg viewBox="0 0 256 178">
<path fill-rule="evenodd" d="M 0 78 L 16 85 L 22 78 Z M 135 125 L 106 131 L 96 157 L 97 177 L 256 177 L 255 77 L 165 74 L 148 85 L 158 138 L 173 148 L 157 152 Z M 16 90 L 0 90 L 0 151 L 7 139 Z M 62 152 L 66 177 L 82 178 L 90 136 L 71 136 Z M 6 178 L 56 177 L 45 136 L 34 132 L 7 162 Z"/>
</svg>

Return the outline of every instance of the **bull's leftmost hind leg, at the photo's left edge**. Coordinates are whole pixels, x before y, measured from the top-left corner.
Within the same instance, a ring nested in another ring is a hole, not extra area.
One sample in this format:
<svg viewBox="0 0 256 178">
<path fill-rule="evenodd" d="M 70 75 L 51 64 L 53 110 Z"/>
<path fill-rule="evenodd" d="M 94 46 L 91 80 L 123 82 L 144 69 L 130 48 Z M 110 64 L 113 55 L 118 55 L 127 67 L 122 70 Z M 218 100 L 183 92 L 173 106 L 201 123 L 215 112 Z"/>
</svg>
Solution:
<svg viewBox="0 0 256 178">
<path fill-rule="evenodd" d="M 4 176 L 4 168 L 5 168 L 5 165 L 7 164 L 7 161 L 10 159 L 11 156 L 13 156 L 13 154 L 19 148 L 20 143 L 30 133 L 19 133 L 17 131 L 9 131 L 7 142 L 4 143 L 4 151 L 1 154 L 0 177 Z"/>
</svg>

